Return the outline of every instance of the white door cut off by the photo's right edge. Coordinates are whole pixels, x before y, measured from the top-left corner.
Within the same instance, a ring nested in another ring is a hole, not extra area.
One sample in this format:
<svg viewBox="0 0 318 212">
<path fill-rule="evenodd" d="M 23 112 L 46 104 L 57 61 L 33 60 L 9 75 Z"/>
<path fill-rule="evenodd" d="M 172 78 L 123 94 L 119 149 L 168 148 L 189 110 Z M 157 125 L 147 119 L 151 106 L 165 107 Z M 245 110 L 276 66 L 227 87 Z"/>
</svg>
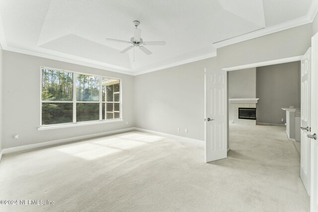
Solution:
<svg viewBox="0 0 318 212">
<path fill-rule="evenodd" d="M 318 33 L 312 38 L 311 197 L 310 211 L 318 212 Z M 314 139 L 316 138 L 316 139 Z"/>
</svg>

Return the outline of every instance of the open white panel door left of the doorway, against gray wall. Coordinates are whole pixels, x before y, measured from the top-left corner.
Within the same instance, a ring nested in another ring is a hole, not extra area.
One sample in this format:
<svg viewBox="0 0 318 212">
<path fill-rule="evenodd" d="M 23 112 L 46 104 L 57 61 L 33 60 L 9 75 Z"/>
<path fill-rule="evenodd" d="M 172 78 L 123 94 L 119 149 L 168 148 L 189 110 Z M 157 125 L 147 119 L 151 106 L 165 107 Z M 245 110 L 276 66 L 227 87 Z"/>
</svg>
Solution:
<svg viewBox="0 0 318 212">
<path fill-rule="evenodd" d="M 227 72 L 205 69 L 205 161 L 227 157 Z"/>
</svg>

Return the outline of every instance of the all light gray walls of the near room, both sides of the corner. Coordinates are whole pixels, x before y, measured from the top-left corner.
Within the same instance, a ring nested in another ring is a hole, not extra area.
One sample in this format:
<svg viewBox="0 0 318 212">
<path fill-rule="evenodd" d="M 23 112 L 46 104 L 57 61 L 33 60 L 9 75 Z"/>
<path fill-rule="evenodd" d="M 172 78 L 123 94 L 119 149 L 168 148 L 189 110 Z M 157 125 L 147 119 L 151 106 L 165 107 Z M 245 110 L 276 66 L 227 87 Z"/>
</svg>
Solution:
<svg viewBox="0 0 318 212">
<path fill-rule="evenodd" d="M 215 58 L 136 77 L 3 51 L 5 80 L 2 85 L 2 110 L 5 112 L 2 115 L 2 147 L 53 141 L 134 126 L 204 140 L 203 69 L 206 67 L 221 70 L 226 67 L 303 55 L 311 45 L 313 30 L 312 24 L 295 27 L 220 48 Z M 40 118 L 40 66 L 122 78 L 125 121 L 37 131 Z M 134 114 L 138 117 L 136 123 Z M 126 121 L 129 125 L 125 125 Z M 176 131 L 178 127 L 181 128 L 180 132 Z M 184 133 L 184 128 L 188 128 L 189 132 Z M 19 140 L 13 140 L 14 134 L 19 134 Z"/>
</svg>

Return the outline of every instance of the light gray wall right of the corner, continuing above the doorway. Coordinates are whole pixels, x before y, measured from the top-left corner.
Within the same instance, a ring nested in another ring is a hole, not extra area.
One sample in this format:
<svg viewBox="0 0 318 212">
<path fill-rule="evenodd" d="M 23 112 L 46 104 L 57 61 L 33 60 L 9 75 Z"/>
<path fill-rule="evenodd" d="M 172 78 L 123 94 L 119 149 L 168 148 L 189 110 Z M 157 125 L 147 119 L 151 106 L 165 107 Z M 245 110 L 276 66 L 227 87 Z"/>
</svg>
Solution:
<svg viewBox="0 0 318 212">
<path fill-rule="evenodd" d="M 306 24 L 219 48 L 215 58 L 136 76 L 136 127 L 204 140 L 203 69 L 303 55 L 311 46 L 312 32 L 312 24 Z"/>
</svg>

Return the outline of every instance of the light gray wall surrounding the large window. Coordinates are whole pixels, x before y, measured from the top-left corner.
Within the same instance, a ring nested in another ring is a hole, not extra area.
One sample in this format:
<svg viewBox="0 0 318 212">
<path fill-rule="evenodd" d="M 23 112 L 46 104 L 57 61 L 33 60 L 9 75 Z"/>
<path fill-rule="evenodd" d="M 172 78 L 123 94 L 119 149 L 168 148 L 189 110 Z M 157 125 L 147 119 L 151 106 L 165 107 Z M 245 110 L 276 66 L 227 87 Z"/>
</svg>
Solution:
<svg viewBox="0 0 318 212">
<path fill-rule="evenodd" d="M 38 131 L 40 122 L 40 66 L 122 79 L 123 122 Z M 50 59 L 3 51 L 2 147 L 54 141 L 134 126 L 134 76 Z M 126 122 L 129 122 L 126 125 Z M 19 134 L 18 140 L 13 135 Z"/>
</svg>

